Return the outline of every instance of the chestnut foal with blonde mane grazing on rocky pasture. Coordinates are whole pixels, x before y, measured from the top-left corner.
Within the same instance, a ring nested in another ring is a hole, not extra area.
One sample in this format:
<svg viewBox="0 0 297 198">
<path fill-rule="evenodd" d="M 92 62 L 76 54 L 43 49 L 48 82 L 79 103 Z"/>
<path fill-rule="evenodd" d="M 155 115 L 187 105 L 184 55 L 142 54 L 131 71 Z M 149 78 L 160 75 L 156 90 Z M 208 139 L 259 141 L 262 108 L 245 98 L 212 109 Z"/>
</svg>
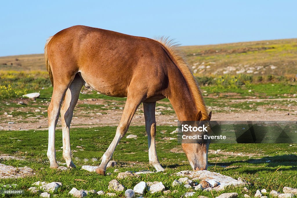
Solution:
<svg viewBox="0 0 297 198">
<path fill-rule="evenodd" d="M 88 26 L 72 26 L 48 39 L 45 63 L 53 84 L 48 106 L 47 155 L 51 168 L 59 166 L 55 128 L 60 112 L 63 158 L 68 167 L 75 167 L 71 159 L 69 127 L 83 85 L 108 96 L 127 97 L 116 135 L 96 169 L 102 175 L 140 103 L 143 103 L 148 134 L 149 162 L 157 171 L 164 169 L 155 145 L 156 101 L 168 98 L 178 120 L 210 120 L 211 113 L 207 113 L 195 78 L 177 45 L 168 39 L 156 41 Z M 194 170 L 207 168 L 208 144 L 183 144 L 182 147 Z"/>
</svg>

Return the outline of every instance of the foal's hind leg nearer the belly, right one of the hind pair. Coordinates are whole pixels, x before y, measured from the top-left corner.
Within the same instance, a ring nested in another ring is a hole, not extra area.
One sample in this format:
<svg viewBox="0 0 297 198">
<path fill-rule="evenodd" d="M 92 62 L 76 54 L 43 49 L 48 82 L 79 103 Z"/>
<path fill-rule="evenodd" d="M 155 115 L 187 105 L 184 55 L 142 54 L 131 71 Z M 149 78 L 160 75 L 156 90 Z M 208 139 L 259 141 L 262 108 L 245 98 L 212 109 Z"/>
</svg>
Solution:
<svg viewBox="0 0 297 198">
<path fill-rule="evenodd" d="M 75 165 L 71 158 L 69 128 L 73 116 L 73 109 L 78 101 L 79 93 L 83 87 L 83 80 L 76 75 L 66 91 L 63 105 L 61 107 L 61 121 L 63 134 L 63 158 L 68 167 L 73 168 Z"/>
</svg>

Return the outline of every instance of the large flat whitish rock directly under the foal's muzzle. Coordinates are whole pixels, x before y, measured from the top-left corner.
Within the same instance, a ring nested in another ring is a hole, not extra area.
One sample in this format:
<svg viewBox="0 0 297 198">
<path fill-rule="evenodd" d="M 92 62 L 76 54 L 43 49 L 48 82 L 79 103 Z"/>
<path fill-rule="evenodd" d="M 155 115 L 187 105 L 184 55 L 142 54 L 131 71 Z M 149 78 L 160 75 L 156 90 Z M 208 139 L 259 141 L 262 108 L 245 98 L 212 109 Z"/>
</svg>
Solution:
<svg viewBox="0 0 297 198">
<path fill-rule="evenodd" d="M 187 171 L 177 172 L 176 175 L 189 177 L 189 178 L 196 178 L 197 180 L 215 180 L 217 183 L 219 183 L 219 185 L 214 188 L 214 190 L 216 191 L 223 190 L 227 186 L 246 185 L 244 181 L 239 181 L 239 180 L 233 179 L 232 177 L 222 175 L 216 172 L 210 172 L 207 170 L 200 170 L 200 171 L 187 170 Z"/>
</svg>

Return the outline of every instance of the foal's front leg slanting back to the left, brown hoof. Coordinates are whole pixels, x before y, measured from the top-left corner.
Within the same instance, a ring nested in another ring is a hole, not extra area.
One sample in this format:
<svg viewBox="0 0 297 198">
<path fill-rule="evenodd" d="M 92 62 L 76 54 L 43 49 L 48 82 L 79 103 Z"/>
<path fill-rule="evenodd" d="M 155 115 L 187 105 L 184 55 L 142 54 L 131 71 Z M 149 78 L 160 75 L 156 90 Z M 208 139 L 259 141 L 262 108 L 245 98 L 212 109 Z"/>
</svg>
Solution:
<svg viewBox="0 0 297 198">
<path fill-rule="evenodd" d="M 132 117 L 135 114 L 135 111 L 137 110 L 138 106 L 140 105 L 141 100 L 142 98 L 139 98 L 139 95 L 136 97 L 128 95 L 120 124 L 116 129 L 116 135 L 114 136 L 113 141 L 109 145 L 106 152 L 103 154 L 100 166 L 96 169 L 96 172 L 98 174 L 105 175 L 106 166 L 112 158 L 113 152 L 116 149 L 116 145 L 118 145 L 120 139 L 125 136 L 129 128 L 130 122 L 132 120 Z"/>
</svg>

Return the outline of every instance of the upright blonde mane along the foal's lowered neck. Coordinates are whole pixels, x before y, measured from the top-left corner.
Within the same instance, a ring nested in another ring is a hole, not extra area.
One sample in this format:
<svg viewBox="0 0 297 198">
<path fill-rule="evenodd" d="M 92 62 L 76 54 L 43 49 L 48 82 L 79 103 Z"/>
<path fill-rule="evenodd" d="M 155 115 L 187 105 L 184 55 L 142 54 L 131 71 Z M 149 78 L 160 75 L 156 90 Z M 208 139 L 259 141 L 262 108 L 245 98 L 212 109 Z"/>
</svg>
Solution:
<svg viewBox="0 0 297 198">
<path fill-rule="evenodd" d="M 176 64 L 176 66 L 186 79 L 192 98 L 195 101 L 195 106 L 198 111 L 201 111 L 203 120 L 209 120 L 200 87 L 196 79 L 194 78 L 189 65 L 184 60 L 184 57 L 186 55 L 184 54 L 184 52 L 181 51 L 180 45 L 174 42 L 174 40 L 169 39 L 169 37 L 160 37 L 159 39 L 156 39 L 156 41 L 161 43 L 168 51 L 168 54 L 171 56 L 172 61 Z"/>
</svg>

